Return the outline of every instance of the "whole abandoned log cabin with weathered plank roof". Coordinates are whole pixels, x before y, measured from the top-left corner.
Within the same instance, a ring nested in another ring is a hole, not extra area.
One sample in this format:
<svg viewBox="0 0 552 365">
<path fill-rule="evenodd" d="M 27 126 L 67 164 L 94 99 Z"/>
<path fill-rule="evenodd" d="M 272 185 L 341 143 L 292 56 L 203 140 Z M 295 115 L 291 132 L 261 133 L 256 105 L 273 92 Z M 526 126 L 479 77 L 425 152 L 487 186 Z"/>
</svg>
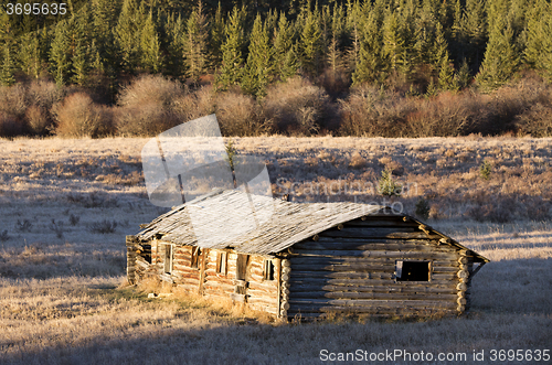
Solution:
<svg viewBox="0 0 552 365">
<path fill-rule="evenodd" d="M 459 314 L 471 278 L 489 261 L 385 206 L 291 203 L 237 190 L 141 227 L 127 236 L 129 282 L 149 276 L 284 319 Z"/>
</svg>

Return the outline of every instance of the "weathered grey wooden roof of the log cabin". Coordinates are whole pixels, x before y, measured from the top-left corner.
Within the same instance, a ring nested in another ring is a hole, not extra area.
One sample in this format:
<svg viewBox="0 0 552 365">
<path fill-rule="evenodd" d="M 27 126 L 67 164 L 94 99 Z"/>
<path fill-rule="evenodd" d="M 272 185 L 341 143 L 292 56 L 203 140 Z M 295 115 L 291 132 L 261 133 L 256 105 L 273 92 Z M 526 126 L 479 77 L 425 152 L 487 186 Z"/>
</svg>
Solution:
<svg viewBox="0 0 552 365">
<path fill-rule="evenodd" d="M 136 238 L 149 240 L 157 237 L 179 245 L 216 249 L 230 247 L 244 254 L 269 255 L 339 224 L 383 211 L 405 216 L 382 205 L 290 203 L 238 190 L 214 191 L 153 219 L 144 226 Z M 467 249 L 450 237 L 424 227 L 445 238 L 447 244 Z M 488 261 L 482 256 L 476 256 Z"/>
</svg>

